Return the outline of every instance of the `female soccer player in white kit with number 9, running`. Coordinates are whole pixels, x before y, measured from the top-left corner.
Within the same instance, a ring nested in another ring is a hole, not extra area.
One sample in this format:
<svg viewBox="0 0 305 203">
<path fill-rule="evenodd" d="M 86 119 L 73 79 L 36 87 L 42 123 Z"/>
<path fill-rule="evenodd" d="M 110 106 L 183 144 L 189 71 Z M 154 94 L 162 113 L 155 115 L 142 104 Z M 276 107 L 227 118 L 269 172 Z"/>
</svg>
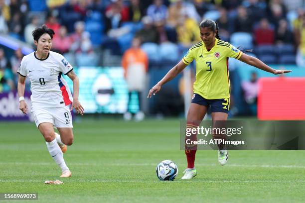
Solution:
<svg viewBox="0 0 305 203">
<path fill-rule="evenodd" d="M 25 78 L 28 77 L 32 92 L 31 112 L 36 126 L 46 141 L 50 155 L 61 168 L 60 177 L 70 177 L 72 174 L 63 159 L 66 145 L 73 143 L 70 110 L 75 108 L 77 113 L 83 115 L 84 108 L 78 101 L 79 80 L 72 66 L 61 54 L 50 51 L 54 34 L 46 25 L 32 32 L 37 50 L 23 57 L 17 71 L 19 109 L 25 114 L 28 111 L 23 98 Z M 62 74 L 73 81 L 73 98 Z M 54 132 L 54 126 L 60 135 Z"/>
</svg>

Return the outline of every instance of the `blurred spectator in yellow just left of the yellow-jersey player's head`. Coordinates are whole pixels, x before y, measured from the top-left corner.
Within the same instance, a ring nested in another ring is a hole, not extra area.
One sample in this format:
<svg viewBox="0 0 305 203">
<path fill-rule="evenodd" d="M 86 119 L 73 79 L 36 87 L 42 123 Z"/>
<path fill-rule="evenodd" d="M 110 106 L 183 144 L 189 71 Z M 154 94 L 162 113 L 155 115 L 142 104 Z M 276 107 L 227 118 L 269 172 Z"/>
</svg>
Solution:
<svg viewBox="0 0 305 203">
<path fill-rule="evenodd" d="M 176 28 L 178 42 L 185 48 L 200 42 L 199 26 L 192 18 L 181 18 Z"/>
</svg>

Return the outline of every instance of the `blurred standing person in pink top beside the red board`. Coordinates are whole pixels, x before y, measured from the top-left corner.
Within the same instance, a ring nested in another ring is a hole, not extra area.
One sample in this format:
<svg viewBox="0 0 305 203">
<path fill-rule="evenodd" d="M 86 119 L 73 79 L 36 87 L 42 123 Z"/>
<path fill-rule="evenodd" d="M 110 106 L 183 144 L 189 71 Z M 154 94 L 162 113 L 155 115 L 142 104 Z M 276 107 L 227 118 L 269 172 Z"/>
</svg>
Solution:
<svg viewBox="0 0 305 203">
<path fill-rule="evenodd" d="M 251 114 L 256 115 L 258 94 L 258 80 L 256 72 L 251 73 L 250 81 L 243 81 L 241 85 L 244 91 L 244 98 L 250 107 Z"/>
</svg>

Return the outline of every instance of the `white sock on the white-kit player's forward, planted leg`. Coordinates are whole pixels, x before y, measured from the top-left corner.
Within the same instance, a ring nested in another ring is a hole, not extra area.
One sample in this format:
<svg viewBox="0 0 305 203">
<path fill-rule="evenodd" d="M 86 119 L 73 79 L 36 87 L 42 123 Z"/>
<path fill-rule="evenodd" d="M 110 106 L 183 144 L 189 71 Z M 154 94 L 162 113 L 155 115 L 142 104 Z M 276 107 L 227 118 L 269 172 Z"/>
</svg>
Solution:
<svg viewBox="0 0 305 203">
<path fill-rule="evenodd" d="M 51 142 L 45 142 L 45 143 L 47 145 L 50 155 L 52 156 L 56 164 L 61 168 L 61 171 L 63 172 L 65 170 L 69 170 L 69 168 L 65 163 L 65 160 L 63 159 L 63 153 L 57 144 L 57 140 L 54 139 Z"/>
</svg>

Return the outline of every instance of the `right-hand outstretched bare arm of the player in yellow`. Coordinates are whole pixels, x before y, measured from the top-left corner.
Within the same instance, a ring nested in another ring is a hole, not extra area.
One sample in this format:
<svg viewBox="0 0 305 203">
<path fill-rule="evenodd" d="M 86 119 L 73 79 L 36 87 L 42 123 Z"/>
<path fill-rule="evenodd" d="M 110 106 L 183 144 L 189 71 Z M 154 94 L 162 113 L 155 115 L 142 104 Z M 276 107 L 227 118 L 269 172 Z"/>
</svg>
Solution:
<svg viewBox="0 0 305 203">
<path fill-rule="evenodd" d="M 245 53 L 242 53 L 242 56 L 239 58 L 240 61 L 249 64 L 251 66 L 254 66 L 256 68 L 259 68 L 263 71 L 267 71 L 269 73 L 273 73 L 275 75 L 282 74 L 282 73 L 290 73 L 291 71 L 288 70 L 276 70 L 271 68 L 270 66 L 267 66 L 265 63 L 263 63 L 258 58 L 255 58 L 253 56 L 249 56 Z"/>
</svg>

